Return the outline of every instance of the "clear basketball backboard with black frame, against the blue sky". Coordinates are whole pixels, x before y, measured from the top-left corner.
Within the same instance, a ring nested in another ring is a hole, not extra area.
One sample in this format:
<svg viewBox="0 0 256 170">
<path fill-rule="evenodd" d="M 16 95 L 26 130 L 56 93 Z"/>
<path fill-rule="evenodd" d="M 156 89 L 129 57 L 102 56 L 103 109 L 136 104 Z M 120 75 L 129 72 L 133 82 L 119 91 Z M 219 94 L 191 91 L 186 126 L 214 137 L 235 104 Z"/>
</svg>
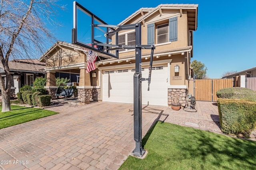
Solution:
<svg viewBox="0 0 256 170">
<path fill-rule="evenodd" d="M 73 2 L 72 44 L 95 51 L 100 57 L 114 57 L 118 59 L 117 50 L 110 50 L 111 47 L 95 44 L 112 44 L 112 36 L 108 33 L 115 29 L 111 27 L 100 27 L 97 24 L 107 25 L 106 22 L 84 8 L 84 6 L 76 1 Z"/>
</svg>

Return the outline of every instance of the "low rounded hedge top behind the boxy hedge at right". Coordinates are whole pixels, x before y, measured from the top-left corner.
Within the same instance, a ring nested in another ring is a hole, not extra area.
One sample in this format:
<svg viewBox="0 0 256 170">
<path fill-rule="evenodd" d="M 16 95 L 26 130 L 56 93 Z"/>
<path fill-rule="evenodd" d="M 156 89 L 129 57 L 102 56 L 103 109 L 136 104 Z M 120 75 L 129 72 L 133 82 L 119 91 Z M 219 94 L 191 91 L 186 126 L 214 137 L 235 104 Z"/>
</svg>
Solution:
<svg viewBox="0 0 256 170">
<path fill-rule="evenodd" d="M 244 99 L 256 102 L 256 92 L 248 88 L 230 87 L 223 88 L 216 92 L 218 98 Z"/>
</svg>

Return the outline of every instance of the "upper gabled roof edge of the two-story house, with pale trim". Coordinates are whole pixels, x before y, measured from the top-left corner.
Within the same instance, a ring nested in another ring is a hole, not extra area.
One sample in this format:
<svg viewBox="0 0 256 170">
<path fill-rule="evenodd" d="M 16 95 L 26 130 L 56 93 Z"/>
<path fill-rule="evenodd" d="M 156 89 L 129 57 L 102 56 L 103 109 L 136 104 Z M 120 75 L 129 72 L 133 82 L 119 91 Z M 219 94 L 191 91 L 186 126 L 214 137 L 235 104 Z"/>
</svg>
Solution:
<svg viewBox="0 0 256 170">
<path fill-rule="evenodd" d="M 142 17 L 140 17 L 136 22 L 146 20 L 148 16 L 154 14 L 156 11 L 161 11 L 161 9 L 186 9 L 187 15 L 188 15 L 188 23 L 189 23 L 188 27 L 190 30 L 196 31 L 198 4 L 160 4 L 155 8 L 140 8 L 139 10 L 134 12 L 132 15 L 130 15 L 128 18 L 126 18 L 124 21 L 120 22 L 118 25 L 124 25 L 139 13 L 141 13 Z M 143 14 L 143 10 L 147 12 L 145 15 Z"/>
</svg>

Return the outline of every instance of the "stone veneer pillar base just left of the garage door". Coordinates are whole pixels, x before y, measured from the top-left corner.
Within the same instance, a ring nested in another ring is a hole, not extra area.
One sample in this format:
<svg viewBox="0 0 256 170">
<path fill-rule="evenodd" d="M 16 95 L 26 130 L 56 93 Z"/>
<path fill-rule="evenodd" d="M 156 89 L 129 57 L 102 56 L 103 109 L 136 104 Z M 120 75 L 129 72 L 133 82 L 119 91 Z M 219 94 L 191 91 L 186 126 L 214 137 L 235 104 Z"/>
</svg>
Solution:
<svg viewBox="0 0 256 170">
<path fill-rule="evenodd" d="M 100 88 L 77 89 L 78 102 L 100 100 Z"/>
</svg>

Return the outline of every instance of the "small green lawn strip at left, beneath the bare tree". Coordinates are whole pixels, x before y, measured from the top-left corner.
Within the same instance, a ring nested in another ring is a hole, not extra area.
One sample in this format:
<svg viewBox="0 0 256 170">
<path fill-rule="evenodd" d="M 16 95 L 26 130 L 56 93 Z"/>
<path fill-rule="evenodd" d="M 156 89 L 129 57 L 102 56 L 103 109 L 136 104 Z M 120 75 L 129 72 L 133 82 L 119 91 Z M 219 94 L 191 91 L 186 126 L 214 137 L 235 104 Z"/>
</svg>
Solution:
<svg viewBox="0 0 256 170">
<path fill-rule="evenodd" d="M 0 129 L 54 115 L 57 112 L 34 107 L 23 107 L 11 105 L 11 111 L 0 113 Z M 2 106 L 0 106 L 2 110 Z"/>
</svg>

